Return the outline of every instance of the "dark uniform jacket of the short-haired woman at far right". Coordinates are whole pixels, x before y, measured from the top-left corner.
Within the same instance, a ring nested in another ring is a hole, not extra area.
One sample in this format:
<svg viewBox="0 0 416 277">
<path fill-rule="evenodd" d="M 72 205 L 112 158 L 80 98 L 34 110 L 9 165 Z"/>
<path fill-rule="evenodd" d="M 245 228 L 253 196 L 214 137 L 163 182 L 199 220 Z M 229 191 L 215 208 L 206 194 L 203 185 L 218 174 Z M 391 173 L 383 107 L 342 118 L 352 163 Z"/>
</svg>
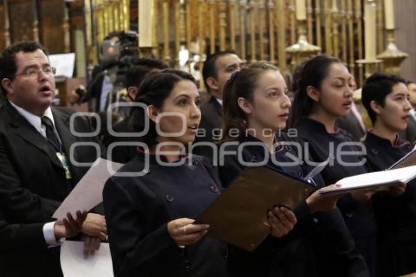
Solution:
<svg viewBox="0 0 416 277">
<path fill-rule="evenodd" d="M 371 132 L 367 133 L 364 144 L 371 171 L 389 168 L 413 148 L 406 140 L 396 138 L 392 144 Z M 378 224 L 378 276 L 416 272 L 415 189 L 416 182 L 412 181 L 401 196 L 391 197 L 387 192 L 378 192 L 372 197 Z"/>
</svg>

